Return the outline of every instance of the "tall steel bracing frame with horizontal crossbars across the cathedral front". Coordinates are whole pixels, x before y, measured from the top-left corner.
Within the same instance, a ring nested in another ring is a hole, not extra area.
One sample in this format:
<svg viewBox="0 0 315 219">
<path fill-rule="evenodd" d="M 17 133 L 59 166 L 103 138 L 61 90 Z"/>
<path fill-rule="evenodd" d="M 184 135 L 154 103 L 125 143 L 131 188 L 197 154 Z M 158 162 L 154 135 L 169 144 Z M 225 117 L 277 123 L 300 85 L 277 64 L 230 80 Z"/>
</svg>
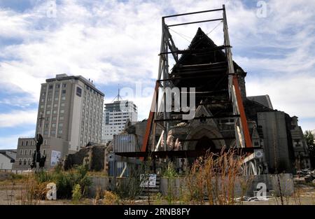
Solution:
<svg viewBox="0 0 315 219">
<path fill-rule="evenodd" d="M 179 24 L 171 24 L 168 25 L 166 23 L 167 18 L 169 17 L 179 17 L 179 16 L 187 16 L 187 15 L 193 15 L 193 14 L 200 14 L 200 13 L 212 13 L 215 11 L 222 11 L 223 16 L 218 19 L 211 19 L 211 20 L 200 20 L 195 22 L 184 22 Z M 148 152 L 151 151 L 151 149 L 148 147 L 150 144 L 150 136 L 151 136 L 151 146 L 155 148 L 156 145 L 156 129 L 159 125 L 163 129 L 163 141 L 164 141 L 164 150 L 166 151 L 167 146 L 167 134 L 169 132 L 169 122 L 173 121 L 183 121 L 182 118 L 173 118 L 172 115 L 176 114 L 179 115 L 181 112 L 167 112 L 167 97 L 166 92 L 162 93 L 162 102 L 159 106 L 158 103 L 158 96 L 159 96 L 159 88 L 172 88 L 174 87 L 174 80 L 189 80 L 190 78 L 196 78 L 198 76 L 187 76 L 185 78 L 169 78 L 169 54 L 172 54 L 172 57 L 174 57 L 174 60 L 176 63 L 179 62 L 179 55 L 181 54 L 189 54 L 191 52 L 202 53 L 202 52 L 210 52 L 210 51 L 204 51 L 204 50 L 192 50 L 188 48 L 188 50 L 179 50 L 176 48 L 176 45 L 174 43 L 174 40 L 172 38 L 172 34 L 169 32 L 169 27 L 174 26 L 180 26 L 180 25 L 188 25 L 188 24 L 197 24 L 202 22 L 214 22 L 214 21 L 222 21 L 223 22 L 223 36 L 224 36 L 224 45 L 217 46 L 216 48 L 212 49 L 212 51 L 216 50 L 225 50 L 225 59 L 226 62 L 221 63 L 214 63 L 214 64 L 196 64 L 196 65 L 190 65 L 190 66 L 182 66 L 188 68 L 188 70 L 185 70 L 185 73 L 194 73 L 195 71 L 201 72 L 200 69 L 196 69 L 197 67 L 207 67 L 212 69 L 206 69 L 203 70 L 205 73 L 211 72 L 211 71 L 217 71 L 220 69 L 224 69 L 227 64 L 227 71 L 226 75 L 228 76 L 228 94 L 229 94 L 229 102 L 232 104 L 232 114 L 230 115 L 212 115 L 208 117 L 197 117 L 193 120 L 200 120 L 200 119 L 207 119 L 207 118 L 235 118 L 235 139 L 236 139 L 236 148 L 252 148 L 251 143 L 251 136 L 248 132 L 248 125 L 246 120 L 246 115 L 244 111 L 243 101 L 241 99 L 241 92 L 239 90 L 239 83 L 237 80 L 237 73 L 235 73 L 235 68 L 232 60 L 232 46 L 230 45 L 230 38 L 228 33 L 228 22 L 227 22 L 227 16 L 225 11 L 225 5 L 223 5 L 223 8 L 218 8 L 214 10 L 203 10 L 193 13 L 183 13 L 178 15 L 169 15 L 162 17 L 162 38 L 161 38 L 161 46 L 160 46 L 160 61 L 159 61 L 159 69 L 158 69 L 158 80 L 155 84 L 155 93 L 153 97 L 153 102 L 151 105 L 151 111 L 148 117 L 148 123 L 146 126 L 146 134 L 144 136 L 144 141 L 142 143 L 141 152 L 139 153 L 141 155 L 148 155 Z M 189 70 L 190 68 L 190 70 Z M 211 74 L 200 76 L 200 78 L 211 78 L 214 76 L 211 76 Z M 224 91 L 222 91 L 224 92 Z M 207 94 L 210 95 L 210 94 Z M 211 96 L 209 96 L 211 97 Z M 159 109 L 162 108 L 162 119 L 159 113 Z M 195 139 L 197 141 L 198 139 Z M 185 139 L 183 139 L 185 141 Z M 153 150 L 154 151 L 154 150 Z M 247 150 L 246 150 L 247 151 Z M 251 150 L 253 151 L 253 150 Z M 138 155 L 139 155 L 138 154 Z M 188 153 L 184 153 L 186 156 L 189 157 Z M 162 153 L 161 153 L 162 155 Z M 170 154 L 169 154 L 170 155 Z M 140 155 L 139 155 L 140 156 Z"/>
</svg>

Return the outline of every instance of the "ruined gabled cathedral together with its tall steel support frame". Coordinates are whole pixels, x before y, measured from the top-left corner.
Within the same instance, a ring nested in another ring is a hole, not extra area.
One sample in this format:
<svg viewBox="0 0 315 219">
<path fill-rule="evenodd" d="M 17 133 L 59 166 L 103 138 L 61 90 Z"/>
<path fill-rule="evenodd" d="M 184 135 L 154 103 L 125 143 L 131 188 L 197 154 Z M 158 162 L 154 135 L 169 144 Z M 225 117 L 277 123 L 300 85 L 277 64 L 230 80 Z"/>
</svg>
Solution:
<svg viewBox="0 0 315 219">
<path fill-rule="evenodd" d="M 200 22 L 220 20 L 223 45 L 216 45 L 198 28 L 186 50 L 176 48 L 169 27 L 198 22 L 167 25 L 168 18 L 219 10 L 222 18 Z M 126 176 L 129 166 L 148 157 L 154 169 L 173 162 L 183 173 L 197 157 L 229 150 L 244 157 L 245 175 L 294 174 L 311 168 L 297 117 L 274 109 L 268 95 L 247 97 L 247 73 L 232 59 L 225 6 L 196 13 L 162 17 L 151 111 L 147 120 L 127 122 L 124 132 L 113 136 L 104 156 L 109 175 Z M 170 71 L 169 56 L 175 60 Z"/>
</svg>

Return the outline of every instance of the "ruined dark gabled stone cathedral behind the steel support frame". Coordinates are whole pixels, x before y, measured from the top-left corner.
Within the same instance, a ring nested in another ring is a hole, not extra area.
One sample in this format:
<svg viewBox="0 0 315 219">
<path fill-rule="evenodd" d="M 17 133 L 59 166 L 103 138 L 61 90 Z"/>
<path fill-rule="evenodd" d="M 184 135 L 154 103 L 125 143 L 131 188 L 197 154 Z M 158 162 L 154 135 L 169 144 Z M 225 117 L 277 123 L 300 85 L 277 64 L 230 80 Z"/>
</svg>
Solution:
<svg viewBox="0 0 315 219">
<path fill-rule="evenodd" d="M 296 169 L 311 167 L 297 117 L 274 109 L 268 95 L 247 97 L 247 73 L 233 61 L 233 79 L 237 80 L 234 81 L 235 96 L 239 94 L 241 99 L 237 107 L 243 109 L 246 120 L 241 121 L 241 113 L 235 113 L 228 88 L 228 60 L 223 47 L 216 45 L 199 28 L 188 49 L 181 53 L 181 57 L 174 56 L 178 60 L 172 71 L 157 84 L 158 87 L 166 85 L 166 82 L 172 84 L 170 87 L 195 87 L 195 117 L 183 120 L 181 111 L 163 113 L 163 103 L 154 106 L 153 99 L 153 107 L 158 108 L 158 112 L 151 112 L 148 120 L 138 124 L 130 123 L 125 134 L 115 136 L 112 145 L 116 155 L 141 157 L 151 153 L 155 158 L 172 157 L 176 168 L 185 171 L 196 157 L 206 152 L 242 148 L 248 155 L 246 161 L 252 163 L 248 166 L 253 167 L 248 168 L 248 174 L 294 173 Z M 174 107 L 172 104 L 173 110 Z M 239 126 L 235 126 L 237 120 Z M 244 121 L 246 124 L 241 124 Z M 241 129 L 247 129 L 243 136 Z M 138 141 L 134 148 L 142 145 L 142 150 L 136 150 L 136 153 L 120 150 L 125 141 L 121 136 L 126 135 L 135 136 Z"/>
</svg>

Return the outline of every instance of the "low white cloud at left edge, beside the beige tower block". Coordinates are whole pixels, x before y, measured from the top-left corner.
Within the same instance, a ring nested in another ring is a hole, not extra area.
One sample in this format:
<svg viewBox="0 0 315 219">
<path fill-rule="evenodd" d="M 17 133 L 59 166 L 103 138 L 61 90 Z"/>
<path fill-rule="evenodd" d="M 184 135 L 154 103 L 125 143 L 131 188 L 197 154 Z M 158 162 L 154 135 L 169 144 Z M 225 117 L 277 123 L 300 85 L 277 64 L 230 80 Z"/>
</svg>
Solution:
<svg viewBox="0 0 315 219">
<path fill-rule="evenodd" d="M 36 124 L 37 111 L 11 111 L 0 114 L 0 128 Z"/>
</svg>

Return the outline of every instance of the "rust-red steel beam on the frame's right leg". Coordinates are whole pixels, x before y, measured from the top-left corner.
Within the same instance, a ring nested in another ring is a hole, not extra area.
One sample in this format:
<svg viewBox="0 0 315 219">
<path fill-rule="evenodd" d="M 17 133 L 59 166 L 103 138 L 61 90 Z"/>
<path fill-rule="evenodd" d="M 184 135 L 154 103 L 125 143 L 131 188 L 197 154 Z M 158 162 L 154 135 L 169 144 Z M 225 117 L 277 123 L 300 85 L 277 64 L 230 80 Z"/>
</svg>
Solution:
<svg viewBox="0 0 315 219">
<path fill-rule="evenodd" d="M 253 148 L 253 144 L 251 143 L 251 136 L 249 134 L 249 129 L 247 125 L 243 100 L 241 99 L 241 90 L 239 90 L 239 81 L 237 80 L 237 76 L 233 76 L 233 85 L 235 86 L 235 95 L 237 97 L 237 104 L 239 106 L 239 115 L 241 115 L 241 127 L 243 127 L 245 146 L 246 148 Z"/>
</svg>

